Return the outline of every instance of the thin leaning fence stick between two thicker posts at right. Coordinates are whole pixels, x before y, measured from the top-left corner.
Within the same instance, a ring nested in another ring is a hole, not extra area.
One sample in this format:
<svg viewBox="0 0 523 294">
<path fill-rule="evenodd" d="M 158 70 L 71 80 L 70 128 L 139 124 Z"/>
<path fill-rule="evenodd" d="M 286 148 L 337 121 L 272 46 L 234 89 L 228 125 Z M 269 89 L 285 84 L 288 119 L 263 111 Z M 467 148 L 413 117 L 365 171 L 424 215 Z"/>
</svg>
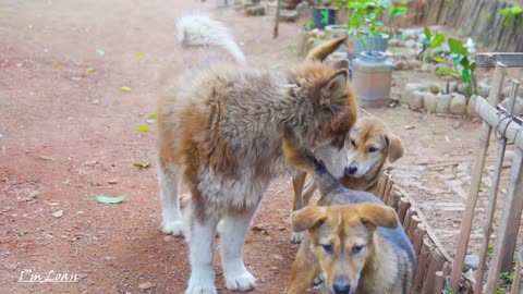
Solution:
<svg viewBox="0 0 523 294">
<path fill-rule="evenodd" d="M 510 91 L 509 105 L 507 106 L 508 114 L 512 114 L 512 109 L 514 108 L 514 102 L 515 102 L 515 97 L 518 94 L 519 86 L 520 86 L 520 83 L 514 81 Z M 500 130 L 496 130 L 496 131 L 500 131 Z M 483 274 L 485 271 L 485 266 L 487 260 L 488 244 L 490 242 L 490 235 L 492 234 L 494 213 L 496 212 L 496 201 L 498 198 L 499 180 L 501 177 L 501 168 L 503 166 L 506 147 L 507 147 L 507 138 L 503 136 L 498 142 L 496 170 L 492 176 L 492 185 L 490 187 L 490 194 L 488 195 L 487 216 L 486 216 L 486 220 L 483 228 L 482 250 L 479 253 L 479 268 L 477 269 L 476 286 L 474 289 L 474 292 L 476 293 L 482 293 L 482 290 L 483 290 Z"/>
</svg>

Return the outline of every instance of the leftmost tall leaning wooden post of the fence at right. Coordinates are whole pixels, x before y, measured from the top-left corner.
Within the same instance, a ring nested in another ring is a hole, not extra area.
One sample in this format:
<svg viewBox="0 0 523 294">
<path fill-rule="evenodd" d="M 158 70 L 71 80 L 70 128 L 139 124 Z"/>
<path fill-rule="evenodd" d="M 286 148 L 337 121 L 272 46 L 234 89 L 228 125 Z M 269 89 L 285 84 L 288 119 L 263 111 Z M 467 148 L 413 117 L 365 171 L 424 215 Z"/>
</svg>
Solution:
<svg viewBox="0 0 523 294">
<path fill-rule="evenodd" d="M 504 72 L 507 66 L 501 62 L 496 64 L 494 71 L 492 84 L 490 87 L 490 93 L 488 95 L 488 101 L 490 105 L 496 106 L 501 94 L 501 88 L 503 85 Z M 454 291 L 458 290 L 461 271 L 463 269 L 463 264 L 465 261 L 466 249 L 469 247 L 469 240 L 471 237 L 472 220 L 474 218 L 474 210 L 476 208 L 477 193 L 479 189 L 479 184 L 482 182 L 483 168 L 485 166 L 485 156 L 488 149 L 488 140 L 490 138 L 491 126 L 487 122 L 483 122 L 482 131 L 479 135 L 479 146 L 476 154 L 476 160 L 474 164 L 474 170 L 471 181 L 471 189 L 469 193 L 469 198 L 466 199 L 465 213 L 463 220 L 461 221 L 460 228 L 460 240 L 458 242 L 458 248 L 455 250 L 455 257 L 452 265 L 452 274 L 450 277 L 450 283 Z"/>
</svg>

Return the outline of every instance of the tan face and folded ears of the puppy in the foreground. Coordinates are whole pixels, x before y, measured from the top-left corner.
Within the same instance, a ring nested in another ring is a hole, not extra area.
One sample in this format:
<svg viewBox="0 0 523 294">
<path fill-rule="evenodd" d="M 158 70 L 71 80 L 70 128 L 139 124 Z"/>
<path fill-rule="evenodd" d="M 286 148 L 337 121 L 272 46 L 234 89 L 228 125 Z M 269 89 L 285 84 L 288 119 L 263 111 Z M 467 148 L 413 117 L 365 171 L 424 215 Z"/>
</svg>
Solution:
<svg viewBox="0 0 523 294">
<path fill-rule="evenodd" d="M 308 231 L 305 244 L 320 265 L 326 292 L 353 294 L 374 254 L 376 226 L 396 228 L 398 217 L 392 208 L 369 203 L 309 206 L 292 215 L 292 224 L 294 231 Z"/>
</svg>

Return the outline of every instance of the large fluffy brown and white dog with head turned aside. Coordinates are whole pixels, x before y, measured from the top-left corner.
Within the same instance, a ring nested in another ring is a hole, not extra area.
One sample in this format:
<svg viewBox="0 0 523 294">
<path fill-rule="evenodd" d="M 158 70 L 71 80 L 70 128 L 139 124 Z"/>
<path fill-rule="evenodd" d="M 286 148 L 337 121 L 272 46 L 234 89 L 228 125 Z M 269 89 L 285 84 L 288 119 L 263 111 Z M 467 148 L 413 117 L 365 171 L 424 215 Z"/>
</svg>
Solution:
<svg viewBox="0 0 523 294">
<path fill-rule="evenodd" d="M 157 111 L 162 230 L 191 236 L 185 293 L 212 294 L 214 236 L 222 220 L 226 286 L 247 291 L 255 286 L 243 262 L 248 225 L 270 182 L 294 172 L 281 149 L 283 126 L 312 150 L 332 146 L 342 154 L 357 111 L 348 62 L 256 70 L 219 22 L 188 15 L 178 34 L 182 48 L 173 66 L 184 71 L 165 78 Z M 178 198 L 182 179 L 192 194 L 186 226 Z"/>
</svg>

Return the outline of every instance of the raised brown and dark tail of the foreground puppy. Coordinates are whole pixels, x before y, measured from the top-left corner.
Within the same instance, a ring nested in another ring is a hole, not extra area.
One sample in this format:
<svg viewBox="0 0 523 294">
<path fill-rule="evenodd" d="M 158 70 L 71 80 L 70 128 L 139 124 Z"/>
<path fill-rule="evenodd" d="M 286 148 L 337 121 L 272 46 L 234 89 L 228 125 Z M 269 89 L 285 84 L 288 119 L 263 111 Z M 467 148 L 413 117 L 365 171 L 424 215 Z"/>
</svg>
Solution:
<svg viewBox="0 0 523 294">
<path fill-rule="evenodd" d="M 285 159 L 295 168 L 308 172 L 316 180 L 321 195 L 328 195 L 340 182 L 329 173 L 325 164 L 316 159 L 311 150 L 302 145 L 290 127 L 283 131 L 282 149 Z"/>
</svg>

